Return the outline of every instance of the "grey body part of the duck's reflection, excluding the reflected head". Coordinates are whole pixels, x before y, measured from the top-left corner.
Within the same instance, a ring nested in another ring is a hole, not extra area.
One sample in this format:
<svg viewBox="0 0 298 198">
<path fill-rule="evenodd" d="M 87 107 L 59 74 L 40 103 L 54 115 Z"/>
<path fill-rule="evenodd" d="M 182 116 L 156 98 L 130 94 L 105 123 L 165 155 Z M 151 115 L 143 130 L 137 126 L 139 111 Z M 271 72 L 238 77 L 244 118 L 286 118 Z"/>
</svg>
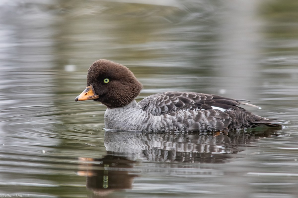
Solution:
<svg viewBox="0 0 298 198">
<path fill-rule="evenodd" d="M 275 130 L 276 131 L 276 130 Z M 233 158 L 232 153 L 243 151 L 243 146 L 260 137 L 276 134 L 274 130 L 208 133 L 151 132 L 136 133 L 105 131 L 105 147 L 109 153 L 131 160 L 223 163 Z"/>
</svg>

